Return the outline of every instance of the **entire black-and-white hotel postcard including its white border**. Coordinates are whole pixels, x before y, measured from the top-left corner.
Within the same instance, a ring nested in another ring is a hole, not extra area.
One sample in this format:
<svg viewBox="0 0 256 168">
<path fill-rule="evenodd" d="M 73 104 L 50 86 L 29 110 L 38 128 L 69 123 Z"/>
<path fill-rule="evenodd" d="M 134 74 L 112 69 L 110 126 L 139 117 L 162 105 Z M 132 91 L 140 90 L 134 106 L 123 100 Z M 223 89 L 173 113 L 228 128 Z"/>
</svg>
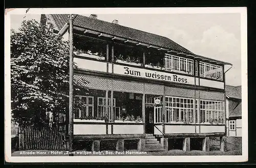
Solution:
<svg viewBox="0 0 256 168">
<path fill-rule="evenodd" d="M 7 10 L 6 161 L 248 160 L 246 12 Z"/>
</svg>

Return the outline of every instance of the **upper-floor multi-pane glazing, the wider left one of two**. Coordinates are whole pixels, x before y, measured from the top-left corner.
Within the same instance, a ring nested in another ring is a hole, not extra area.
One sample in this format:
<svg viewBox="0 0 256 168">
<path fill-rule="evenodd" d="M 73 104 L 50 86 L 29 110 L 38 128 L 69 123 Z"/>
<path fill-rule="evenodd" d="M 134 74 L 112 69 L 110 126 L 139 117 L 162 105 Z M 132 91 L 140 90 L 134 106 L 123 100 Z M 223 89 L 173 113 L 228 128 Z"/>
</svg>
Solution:
<svg viewBox="0 0 256 168">
<path fill-rule="evenodd" d="M 194 60 L 183 57 L 165 54 L 165 70 L 180 71 L 189 75 L 194 75 Z"/>
</svg>

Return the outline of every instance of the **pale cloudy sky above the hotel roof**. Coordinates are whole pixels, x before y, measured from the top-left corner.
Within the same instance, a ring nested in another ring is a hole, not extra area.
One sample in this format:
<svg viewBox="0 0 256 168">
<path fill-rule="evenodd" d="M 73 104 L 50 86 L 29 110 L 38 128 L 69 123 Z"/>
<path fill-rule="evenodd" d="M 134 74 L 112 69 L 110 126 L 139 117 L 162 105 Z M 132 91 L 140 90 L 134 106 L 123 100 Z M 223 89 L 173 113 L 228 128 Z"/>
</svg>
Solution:
<svg viewBox="0 0 256 168">
<path fill-rule="evenodd" d="M 97 15 L 101 20 L 117 19 L 119 25 L 168 37 L 195 54 L 229 62 L 233 66 L 226 73 L 226 84 L 241 85 L 240 13 Z M 40 20 L 38 14 L 24 17 L 11 15 L 11 28 L 18 30 L 24 19 Z"/>
</svg>

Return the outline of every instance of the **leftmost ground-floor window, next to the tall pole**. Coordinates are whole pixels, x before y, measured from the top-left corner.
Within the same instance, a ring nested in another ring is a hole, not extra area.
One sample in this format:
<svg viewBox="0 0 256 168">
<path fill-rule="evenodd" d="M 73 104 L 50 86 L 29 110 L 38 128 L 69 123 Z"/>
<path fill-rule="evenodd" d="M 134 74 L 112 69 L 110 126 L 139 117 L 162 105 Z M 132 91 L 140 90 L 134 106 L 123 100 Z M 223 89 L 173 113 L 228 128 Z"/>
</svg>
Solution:
<svg viewBox="0 0 256 168">
<path fill-rule="evenodd" d="M 94 116 L 93 97 L 76 95 L 75 97 L 75 114 L 74 118 L 84 118 L 86 116 Z"/>
</svg>

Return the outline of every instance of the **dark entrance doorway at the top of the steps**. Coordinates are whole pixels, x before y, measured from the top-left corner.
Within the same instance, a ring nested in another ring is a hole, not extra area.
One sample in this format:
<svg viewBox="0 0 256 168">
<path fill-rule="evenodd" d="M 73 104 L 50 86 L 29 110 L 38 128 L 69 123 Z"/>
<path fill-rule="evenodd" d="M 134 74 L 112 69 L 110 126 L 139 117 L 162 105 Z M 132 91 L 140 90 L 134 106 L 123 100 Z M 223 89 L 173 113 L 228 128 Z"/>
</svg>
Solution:
<svg viewBox="0 0 256 168">
<path fill-rule="evenodd" d="M 146 107 L 145 109 L 145 133 L 146 134 L 153 134 L 154 125 L 154 107 Z"/>
</svg>

